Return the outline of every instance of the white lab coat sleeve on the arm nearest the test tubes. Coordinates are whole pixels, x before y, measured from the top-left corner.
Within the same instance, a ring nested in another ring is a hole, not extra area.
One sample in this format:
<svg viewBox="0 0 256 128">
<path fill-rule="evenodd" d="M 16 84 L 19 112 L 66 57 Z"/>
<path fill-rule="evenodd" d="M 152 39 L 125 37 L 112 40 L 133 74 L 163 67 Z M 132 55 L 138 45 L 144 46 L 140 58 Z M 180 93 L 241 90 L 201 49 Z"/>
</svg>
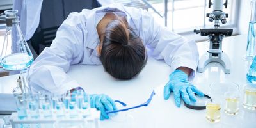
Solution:
<svg viewBox="0 0 256 128">
<path fill-rule="evenodd" d="M 72 13 L 61 24 L 51 47 L 46 47 L 29 71 L 29 84 L 34 90 L 65 93 L 79 84 L 66 74 L 70 65 L 83 58 L 85 23 L 79 22 L 79 13 Z"/>
</svg>

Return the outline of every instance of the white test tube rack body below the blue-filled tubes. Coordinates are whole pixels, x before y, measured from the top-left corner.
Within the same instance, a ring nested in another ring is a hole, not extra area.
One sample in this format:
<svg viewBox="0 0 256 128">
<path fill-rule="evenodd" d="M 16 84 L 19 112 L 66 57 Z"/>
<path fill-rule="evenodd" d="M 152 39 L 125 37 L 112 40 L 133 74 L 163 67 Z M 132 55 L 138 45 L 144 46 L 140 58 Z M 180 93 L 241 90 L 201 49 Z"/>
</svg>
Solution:
<svg viewBox="0 0 256 128">
<path fill-rule="evenodd" d="M 52 118 L 24 118 L 19 119 L 17 113 L 12 113 L 10 116 L 10 122 L 13 128 L 20 127 L 20 125 L 29 125 L 31 128 L 60 128 L 68 127 L 69 125 L 80 125 L 81 127 L 99 128 L 99 118 L 100 111 L 95 108 L 90 108 L 90 115 L 83 118 L 83 116 L 77 116 L 76 118 L 57 118 L 52 116 Z M 24 127 L 24 126 L 23 126 Z M 25 126 L 26 127 L 26 126 Z"/>
</svg>

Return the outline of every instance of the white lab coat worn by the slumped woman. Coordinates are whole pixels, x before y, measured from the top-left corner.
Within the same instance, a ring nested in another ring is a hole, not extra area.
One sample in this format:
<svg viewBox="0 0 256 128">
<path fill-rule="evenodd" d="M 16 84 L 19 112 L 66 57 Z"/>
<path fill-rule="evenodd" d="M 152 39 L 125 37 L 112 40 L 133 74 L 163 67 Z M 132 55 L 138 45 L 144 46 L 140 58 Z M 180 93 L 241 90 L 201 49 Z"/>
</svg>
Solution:
<svg viewBox="0 0 256 128">
<path fill-rule="evenodd" d="M 194 70 L 190 77 L 195 76 L 198 64 L 195 41 L 187 40 L 157 24 L 154 17 L 145 10 L 111 4 L 70 13 L 58 29 L 51 47 L 45 47 L 31 65 L 29 76 L 33 88 L 65 93 L 81 86 L 66 72 L 70 65 L 101 65 L 96 52 L 99 45 L 96 26 L 106 12 L 123 12 L 128 24 L 136 30 L 147 49 L 150 49 L 148 54 L 157 60 L 163 59 L 170 65 L 172 72 L 181 66 L 189 67 Z"/>
</svg>

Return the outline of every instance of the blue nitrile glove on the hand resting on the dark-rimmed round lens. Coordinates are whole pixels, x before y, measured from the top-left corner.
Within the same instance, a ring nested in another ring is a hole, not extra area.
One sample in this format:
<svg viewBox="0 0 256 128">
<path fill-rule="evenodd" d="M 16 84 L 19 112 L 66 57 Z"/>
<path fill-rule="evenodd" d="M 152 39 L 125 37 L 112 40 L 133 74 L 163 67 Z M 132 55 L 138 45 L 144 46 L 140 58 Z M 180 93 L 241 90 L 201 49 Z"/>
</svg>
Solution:
<svg viewBox="0 0 256 128">
<path fill-rule="evenodd" d="M 180 107 L 180 95 L 187 104 L 190 104 L 190 100 L 196 101 L 195 93 L 204 96 L 204 93 L 188 82 L 188 75 L 179 69 L 170 74 L 170 80 L 164 86 L 164 99 L 169 99 L 171 92 L 177 107 Z"/>
</svg>

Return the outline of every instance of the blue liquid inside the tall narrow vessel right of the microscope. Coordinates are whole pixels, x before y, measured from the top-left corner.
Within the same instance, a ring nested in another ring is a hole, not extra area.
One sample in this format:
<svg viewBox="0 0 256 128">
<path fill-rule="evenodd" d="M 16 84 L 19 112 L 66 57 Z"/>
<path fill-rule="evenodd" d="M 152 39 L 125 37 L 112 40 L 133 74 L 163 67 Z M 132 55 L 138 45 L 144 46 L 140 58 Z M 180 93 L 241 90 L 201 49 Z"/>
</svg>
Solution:
<svg viewBox="0 0 256 128">
<path fill-rule="evenodd" d="M 255 35 L 256 35 L 256 22 L 249 22 L 249 31 L 247 36 L 246 56 L 253 57 L 255 51 Z"/>
</svg>

